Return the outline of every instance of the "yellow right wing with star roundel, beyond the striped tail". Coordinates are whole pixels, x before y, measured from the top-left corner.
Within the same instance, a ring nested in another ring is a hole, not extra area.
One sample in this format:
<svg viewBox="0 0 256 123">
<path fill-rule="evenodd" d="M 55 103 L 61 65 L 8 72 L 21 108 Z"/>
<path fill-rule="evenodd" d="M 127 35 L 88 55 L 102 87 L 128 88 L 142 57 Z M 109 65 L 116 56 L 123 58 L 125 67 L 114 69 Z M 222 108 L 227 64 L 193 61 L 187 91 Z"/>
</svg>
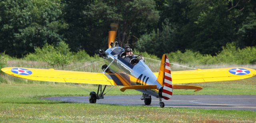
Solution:
<svg viewBox="0 0 256 123">
<path fill-rule="evenodd" d="M 256 70 L 250 68 L 217 68 L 172 71 L 172 84 L 240 80 L 252 77 Z M 158 72 L 154 72 L 158 76 Z"/>
</svg>

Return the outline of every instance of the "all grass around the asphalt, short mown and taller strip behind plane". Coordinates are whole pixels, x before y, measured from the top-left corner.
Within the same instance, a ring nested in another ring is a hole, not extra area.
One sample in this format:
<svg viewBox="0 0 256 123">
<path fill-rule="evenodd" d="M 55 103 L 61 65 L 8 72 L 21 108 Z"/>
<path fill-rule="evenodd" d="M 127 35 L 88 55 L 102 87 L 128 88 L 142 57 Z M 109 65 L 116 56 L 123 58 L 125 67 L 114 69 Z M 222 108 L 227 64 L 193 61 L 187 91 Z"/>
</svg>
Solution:
<svg viewBox="0 0 256 123">
<path fill-rule="evenodd" d="M 158 69 L 157 65 L 150 65 L 150 67 L 154 67 L 153 69 Z M 47 64 L 42 62 L 20 60 L 9 61 L 8 66 L 49 68 Z M 100 71 L 100 69 L 95 69 L 100 66 L 101 64 L 81 70 Z M 198 68 L 216 67 L 228 66 L 200 66 Z M 255 66 L 246 67 L 255 69 Z M 75 67 L 66 69 L 72 70 L 72 68 Z M 173 68 L 175 70 L 183 69 L 180 67 Z M 0 83 L 0 122 L 256 122 L 256 111 L 65 103 L 40 100 L 40 98 L 50 96 L 87 96 L 89 92 L 76 88 L 72 84 L 24 80 L 6 74 L 0 74 Z M 173 94 L 256 95 L 255 76 L 244 80 L 197 83 L 193 85 L 202 86 L 204 89 L 199 92 L 174 90 Z M 97 90 L 97 86 L 94 85 L 82 84 L 80 86 L 90 91 Z M 120 92 L 120 88 L 119 86 L 114 87 L 107 95 L 141 94 L 134 90 Z"/>
</svg>

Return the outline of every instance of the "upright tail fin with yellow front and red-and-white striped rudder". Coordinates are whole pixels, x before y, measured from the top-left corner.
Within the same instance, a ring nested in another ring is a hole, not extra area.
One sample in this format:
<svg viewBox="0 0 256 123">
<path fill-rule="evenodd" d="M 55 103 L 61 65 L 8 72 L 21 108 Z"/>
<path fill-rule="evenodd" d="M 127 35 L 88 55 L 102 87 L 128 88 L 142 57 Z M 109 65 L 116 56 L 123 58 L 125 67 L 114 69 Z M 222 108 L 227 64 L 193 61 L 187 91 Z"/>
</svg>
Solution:
<svg viewBox="0 0 256 123">
<path fill-rule="evenodd" d="M 159 90 L 159 96 L 169 100 L 172 96 L 172 75 L 170 63 L 165 54 L 162 56 L 157 81 L 162 85 L 162 88 Z"/>
</svg>

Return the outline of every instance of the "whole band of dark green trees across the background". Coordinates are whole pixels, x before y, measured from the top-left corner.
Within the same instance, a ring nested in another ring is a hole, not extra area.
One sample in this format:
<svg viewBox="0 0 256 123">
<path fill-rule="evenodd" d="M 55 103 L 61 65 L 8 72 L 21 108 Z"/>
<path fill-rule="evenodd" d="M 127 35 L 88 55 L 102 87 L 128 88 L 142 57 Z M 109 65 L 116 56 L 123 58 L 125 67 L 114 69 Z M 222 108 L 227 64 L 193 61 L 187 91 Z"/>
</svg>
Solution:
<svg viewBox="0 0 256 123">
<path fill-rule="evenodd" d="M 216 55 L 230 42 L 256 45 L 254 0 L 2 0 L 0 52 L 22 57 L 64 41 L 92 56 L 106 48 L 113 22 L 120 45 L 158 57 L 186 49 Z"/>
</svg>

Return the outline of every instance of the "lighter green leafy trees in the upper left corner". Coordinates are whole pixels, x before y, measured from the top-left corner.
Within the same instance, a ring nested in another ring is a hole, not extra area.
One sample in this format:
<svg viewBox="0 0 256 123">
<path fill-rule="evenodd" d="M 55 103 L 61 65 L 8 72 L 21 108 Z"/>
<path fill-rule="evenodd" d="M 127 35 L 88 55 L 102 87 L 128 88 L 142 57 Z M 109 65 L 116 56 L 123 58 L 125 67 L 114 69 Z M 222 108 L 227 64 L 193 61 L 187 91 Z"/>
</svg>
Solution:
<svg viewBox="0 0 256 123">
<path fill-rule="evenodd" d="M 60 0 L 59 0 L 60 1 Z M 58 0 L 3 0 L 0 2 L 0 49 L 21 57 L 35 46 L 62 41 L 66 28 Z"/>
</svg>

